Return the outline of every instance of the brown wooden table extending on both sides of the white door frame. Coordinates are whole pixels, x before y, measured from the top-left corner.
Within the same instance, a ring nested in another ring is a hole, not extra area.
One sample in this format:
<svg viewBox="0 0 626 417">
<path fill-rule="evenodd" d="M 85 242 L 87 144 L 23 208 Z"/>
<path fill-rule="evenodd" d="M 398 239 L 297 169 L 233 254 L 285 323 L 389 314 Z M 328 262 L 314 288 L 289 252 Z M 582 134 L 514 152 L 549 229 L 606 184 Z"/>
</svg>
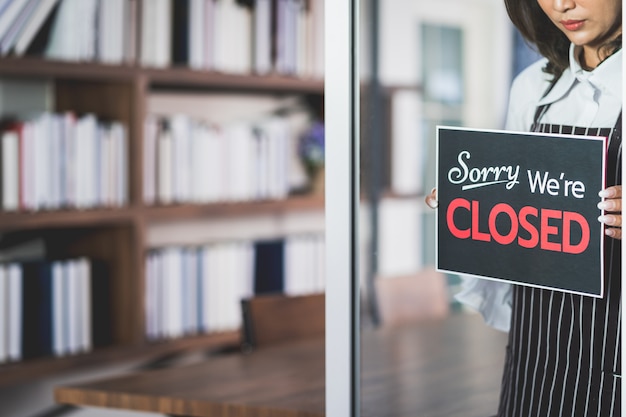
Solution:
<svg viewBox="0 0 626 417">
<path fill-rule="evenodd" d="M 495 414 L 506 335 L 475 315 L 365 330 L 363 417 Z M 194 417 L 324 415 L 324 341 L 58 387 L 59 403 Z"/>
</svg>

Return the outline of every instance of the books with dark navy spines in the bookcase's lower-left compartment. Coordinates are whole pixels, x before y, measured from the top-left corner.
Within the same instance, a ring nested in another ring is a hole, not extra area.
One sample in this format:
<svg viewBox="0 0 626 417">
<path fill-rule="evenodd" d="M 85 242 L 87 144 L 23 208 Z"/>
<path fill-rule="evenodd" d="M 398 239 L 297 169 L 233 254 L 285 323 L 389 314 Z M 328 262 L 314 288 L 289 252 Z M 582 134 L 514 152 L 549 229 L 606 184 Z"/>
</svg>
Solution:
<svg viewBox="0 0 626 417">
<path fill-rule="evenodd" d="M 0 363 L 111 342 L 106 268 L 86 258 L 0 264 Z"/>
</svg>

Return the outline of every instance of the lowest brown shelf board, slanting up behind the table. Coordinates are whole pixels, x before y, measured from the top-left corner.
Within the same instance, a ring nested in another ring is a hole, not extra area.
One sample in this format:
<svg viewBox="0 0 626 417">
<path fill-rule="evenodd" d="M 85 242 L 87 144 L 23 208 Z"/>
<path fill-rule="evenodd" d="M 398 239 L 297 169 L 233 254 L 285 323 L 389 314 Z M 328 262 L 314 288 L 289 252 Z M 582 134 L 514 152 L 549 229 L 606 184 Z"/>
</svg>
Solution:
<svg viewBox="0 0 626 417">
<path fill-rule="evenodd" d="M 102 348 L 62 358 L 45 357 L 13 362 L 0 365 L 0 387 L 32 381 L 37 378 L 53 377 L 61 372 L 79 372 L 89 368 L 97 368 L 105 363 L 137 360 L 148 362 L 151 359 L 177 351 L 234 348 L 239 346 L 240 340 L 239 331 L 229 331 L 163 342 L 146 342 L 146 344 L 138 346 Z"/>
</svg>

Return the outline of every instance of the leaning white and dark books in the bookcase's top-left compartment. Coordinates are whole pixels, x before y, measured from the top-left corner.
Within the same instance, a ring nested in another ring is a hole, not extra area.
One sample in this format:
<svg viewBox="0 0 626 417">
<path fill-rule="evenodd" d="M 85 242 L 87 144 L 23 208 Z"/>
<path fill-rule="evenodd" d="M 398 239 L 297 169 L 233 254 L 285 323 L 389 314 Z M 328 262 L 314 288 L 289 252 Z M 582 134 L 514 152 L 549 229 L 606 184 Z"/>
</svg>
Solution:
<svg viewBox="0 0 626 417">
<path fill-rule="evenodd" d="M 137 0 L 1 0 L 0 55 L 130 63 L 136 20 Z"/>
</svg>

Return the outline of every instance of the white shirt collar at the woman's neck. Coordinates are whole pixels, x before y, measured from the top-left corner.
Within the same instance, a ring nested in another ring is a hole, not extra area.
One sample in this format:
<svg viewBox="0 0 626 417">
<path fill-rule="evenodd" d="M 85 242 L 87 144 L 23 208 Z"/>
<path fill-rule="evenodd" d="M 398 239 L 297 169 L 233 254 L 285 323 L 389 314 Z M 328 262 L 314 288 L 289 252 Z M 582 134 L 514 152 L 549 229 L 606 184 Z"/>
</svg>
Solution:
<svg viewBox="0 0 626 417">
<path fill-rule="evenodd" d="M 621 94 L 622 91 L 622 50 L 615 52 L 592 71 L 586 71 L 578 62 L 576 55 L 580 49 L 574 44 L 569 49 L 569 68 L 563 71 L 552 90 L 543 97 L 538 105 L 550 104 L 565 96 L 576 82 L 590 83 L 602 93 Z"/>
</svg>

